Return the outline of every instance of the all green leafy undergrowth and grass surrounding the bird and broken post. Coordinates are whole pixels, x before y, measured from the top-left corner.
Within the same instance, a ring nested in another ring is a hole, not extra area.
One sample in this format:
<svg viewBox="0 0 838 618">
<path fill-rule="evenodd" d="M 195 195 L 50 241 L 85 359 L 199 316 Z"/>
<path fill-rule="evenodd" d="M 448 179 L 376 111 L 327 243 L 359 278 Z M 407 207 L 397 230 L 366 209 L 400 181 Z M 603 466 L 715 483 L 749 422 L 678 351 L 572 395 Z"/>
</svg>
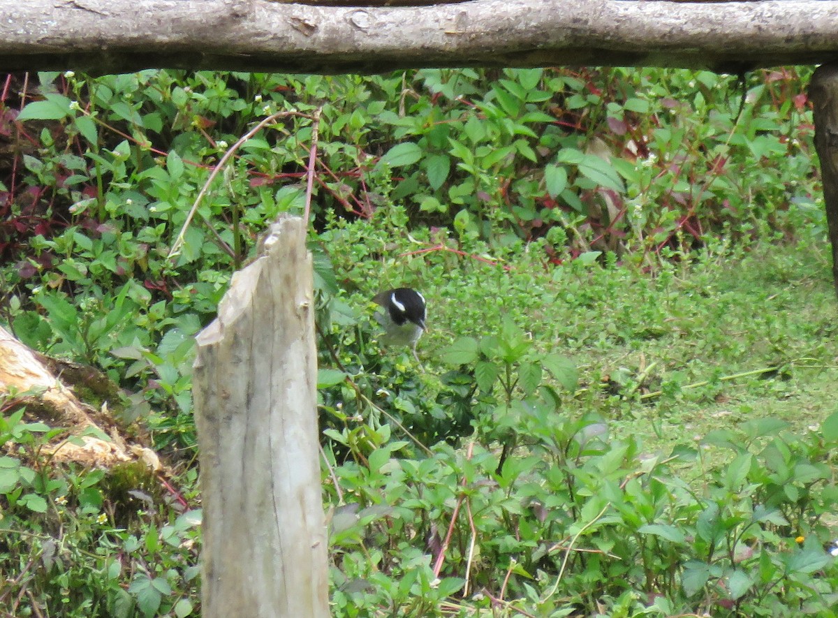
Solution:
<svg viewBox="0 0 838 618">
<path fill-rule="evenodd" d="M 199 615 L 194 334 L 303 212 L 318 114 L 335 616 L 835 615 L 810 72 L 15 82 L 0 318 L 101 370 L 178 472 L 58 465 L 0 400 L 3 616 Z M 428 301 L 421 365 L 376 341 L 395 286 Z"/>
</svg>

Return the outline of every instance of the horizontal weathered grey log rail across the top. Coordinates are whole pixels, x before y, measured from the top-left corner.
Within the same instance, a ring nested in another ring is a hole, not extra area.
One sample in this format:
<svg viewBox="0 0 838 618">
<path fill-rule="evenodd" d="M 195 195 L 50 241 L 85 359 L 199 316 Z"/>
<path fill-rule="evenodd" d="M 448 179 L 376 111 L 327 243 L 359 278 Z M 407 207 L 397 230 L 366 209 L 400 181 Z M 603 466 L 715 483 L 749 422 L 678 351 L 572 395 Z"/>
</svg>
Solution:
<svg viewBox="0 0 838 618">
<path fill-rule="evenodd" d="M 473 0 L 430 7 L 0 0 L 0 24 L 4 71 L 376 73 L 565 64 L 737 73 L 838 61 L 838 3 L 820 0 Z"/>
</svg>

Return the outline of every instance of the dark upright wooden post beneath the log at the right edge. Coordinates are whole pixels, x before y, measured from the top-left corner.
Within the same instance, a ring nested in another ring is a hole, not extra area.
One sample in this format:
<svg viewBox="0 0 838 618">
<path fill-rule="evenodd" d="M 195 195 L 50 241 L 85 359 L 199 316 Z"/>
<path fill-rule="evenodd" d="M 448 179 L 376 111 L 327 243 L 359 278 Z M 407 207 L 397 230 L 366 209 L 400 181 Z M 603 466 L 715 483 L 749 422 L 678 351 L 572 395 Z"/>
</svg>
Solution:
<svg viewBox="0 0 838 618">
<path fill-rule="evenodd" d="M 838 64 L 823 64 L 815 70 L 809 97 L 815 111 L 815 150 L 832 244 L 832 281 L 838 294 Z"/>
</svg>

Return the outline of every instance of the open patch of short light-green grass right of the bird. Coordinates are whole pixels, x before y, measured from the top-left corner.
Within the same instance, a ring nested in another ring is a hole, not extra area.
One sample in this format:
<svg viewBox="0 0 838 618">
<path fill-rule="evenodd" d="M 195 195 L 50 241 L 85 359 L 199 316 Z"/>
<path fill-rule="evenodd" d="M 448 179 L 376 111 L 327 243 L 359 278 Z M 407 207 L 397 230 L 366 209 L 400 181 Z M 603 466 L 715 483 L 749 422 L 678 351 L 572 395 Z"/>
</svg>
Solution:
<svg viewBox="0 0 838 618">
<path fill-rule="evenodd" d="M 633 265 L 546 270 L 527 259 L 503 270 L 426 258 L 422 270 L 392 274 L 428 296 L 432 330 L 420 349 L 431 372 L 446 369 L 438 357 L 453 338 L 489 334 L 510 316 L 539 348 L 577 363 L 569 414 L 598 411 L 649 448 L 769 416 L 805 429 L 835 411 L 825 242 L 706 250 L 651 274 Z"/>
</svg>

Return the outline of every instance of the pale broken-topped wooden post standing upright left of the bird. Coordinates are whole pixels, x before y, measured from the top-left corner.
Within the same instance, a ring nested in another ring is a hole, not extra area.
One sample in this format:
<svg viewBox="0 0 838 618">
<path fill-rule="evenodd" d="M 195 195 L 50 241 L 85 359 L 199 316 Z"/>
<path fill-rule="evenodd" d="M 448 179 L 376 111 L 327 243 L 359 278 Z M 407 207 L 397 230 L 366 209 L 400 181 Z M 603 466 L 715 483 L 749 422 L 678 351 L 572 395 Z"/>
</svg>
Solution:
<svg viewBox="0 0 838 618">
<path fill-rule="evenodd" d="M 204 618 L 328 616 L 305 233 L 273 224 L 198 336 Z"/>
</svg>

